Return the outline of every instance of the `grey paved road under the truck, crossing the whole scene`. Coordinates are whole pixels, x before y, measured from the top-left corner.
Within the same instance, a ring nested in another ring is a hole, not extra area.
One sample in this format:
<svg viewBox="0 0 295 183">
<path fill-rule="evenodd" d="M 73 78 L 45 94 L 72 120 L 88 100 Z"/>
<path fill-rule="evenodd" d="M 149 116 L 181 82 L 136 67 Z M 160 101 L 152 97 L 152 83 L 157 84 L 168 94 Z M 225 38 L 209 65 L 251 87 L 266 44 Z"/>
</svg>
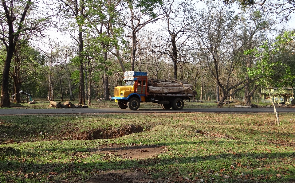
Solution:
<svg viewBox="0 0 295 183">
<path fill-rule="evenodd" d="M 277 108 L 280 112 L 295 112 L 295 108 Z M 0 115 L 18 115 L 18 114 L 97 114 L 97 113 L 175 113 L 175 112 L 273 112 L 273 108 L 196 108 L 183 109 L 175 111 L 172 109 L 0 109 Z"/>
</svg>

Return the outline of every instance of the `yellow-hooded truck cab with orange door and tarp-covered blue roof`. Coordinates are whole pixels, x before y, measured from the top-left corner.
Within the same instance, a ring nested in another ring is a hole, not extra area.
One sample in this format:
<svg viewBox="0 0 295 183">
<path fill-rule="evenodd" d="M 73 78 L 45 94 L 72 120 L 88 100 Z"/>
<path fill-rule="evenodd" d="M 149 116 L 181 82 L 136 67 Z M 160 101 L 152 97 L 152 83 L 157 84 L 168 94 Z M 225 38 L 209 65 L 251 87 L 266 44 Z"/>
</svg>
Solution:
<svg viewBox="0 0 295 183">
<path fill-rule="evenodd" d="M 127 71 L 124 73 L 125 86 L 118 86 L 114 90 L 114 99 L 121 109 L 129 107 L 131 110 L 137 110 L 140 102 L 145 102 L 148 96 L 148 73 Z"/>
</svg>

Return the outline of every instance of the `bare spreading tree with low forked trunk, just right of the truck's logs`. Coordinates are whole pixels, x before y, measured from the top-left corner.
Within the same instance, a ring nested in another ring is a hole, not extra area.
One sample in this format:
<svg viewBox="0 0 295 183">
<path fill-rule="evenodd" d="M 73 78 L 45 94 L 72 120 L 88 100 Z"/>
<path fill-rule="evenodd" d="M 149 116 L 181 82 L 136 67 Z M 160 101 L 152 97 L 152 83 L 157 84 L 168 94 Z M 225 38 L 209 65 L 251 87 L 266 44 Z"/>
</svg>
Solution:
<svg viewBox="0 0 295 183">
<path fill-rule="evenodd" d="M 195 32 L 200 51 L 205 55 L 207 68 L 216 81 L 216 93 L 221 91 L 217 107 L 222 108 L 227 97 L 245 87 L 248 77 L 234 77 L 237 76 L 236 70 L 243 55 L 243 44 L 237 39 L 236 32 L 239 17 L 234 15 L 230 7 L 216 4 L 207 6 L 207 10 L 201 10 L 198 17 L 193 17 L 198 21 L 192 24 L 191 29 Z M 230 93 L 233 89 L 234 92 Z"/>
</svg>

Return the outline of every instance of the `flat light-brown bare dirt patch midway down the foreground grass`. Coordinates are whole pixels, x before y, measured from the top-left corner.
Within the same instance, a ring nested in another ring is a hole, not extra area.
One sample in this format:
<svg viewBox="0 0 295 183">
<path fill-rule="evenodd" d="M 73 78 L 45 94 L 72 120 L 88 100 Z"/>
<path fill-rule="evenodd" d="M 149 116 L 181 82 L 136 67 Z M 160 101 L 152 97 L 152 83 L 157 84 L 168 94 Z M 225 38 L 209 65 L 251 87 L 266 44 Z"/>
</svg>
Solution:
<svg viewBox="0 0 295 183">
<path fill-rule="evenodd" d="M 99 149 L 91 149 L 90 152 L 98 152 L 106 155 L 121 156 L 122 158 L 151 158 L 167 151 L 165 146 L 102 146 Z"/>
</svg>

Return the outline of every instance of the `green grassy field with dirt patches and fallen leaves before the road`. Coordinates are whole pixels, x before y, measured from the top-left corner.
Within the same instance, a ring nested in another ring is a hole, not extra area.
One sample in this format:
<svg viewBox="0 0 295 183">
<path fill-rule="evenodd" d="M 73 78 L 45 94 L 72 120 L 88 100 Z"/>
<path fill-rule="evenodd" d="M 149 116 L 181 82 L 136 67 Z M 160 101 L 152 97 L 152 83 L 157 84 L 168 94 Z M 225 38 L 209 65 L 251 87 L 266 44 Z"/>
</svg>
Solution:
<svg viewBox="0 0 295 183">
<path fill-rule="evenodd" d="M 0 182 L 291 183 L 294 115 L 0 116 Z"/>
</svg>

